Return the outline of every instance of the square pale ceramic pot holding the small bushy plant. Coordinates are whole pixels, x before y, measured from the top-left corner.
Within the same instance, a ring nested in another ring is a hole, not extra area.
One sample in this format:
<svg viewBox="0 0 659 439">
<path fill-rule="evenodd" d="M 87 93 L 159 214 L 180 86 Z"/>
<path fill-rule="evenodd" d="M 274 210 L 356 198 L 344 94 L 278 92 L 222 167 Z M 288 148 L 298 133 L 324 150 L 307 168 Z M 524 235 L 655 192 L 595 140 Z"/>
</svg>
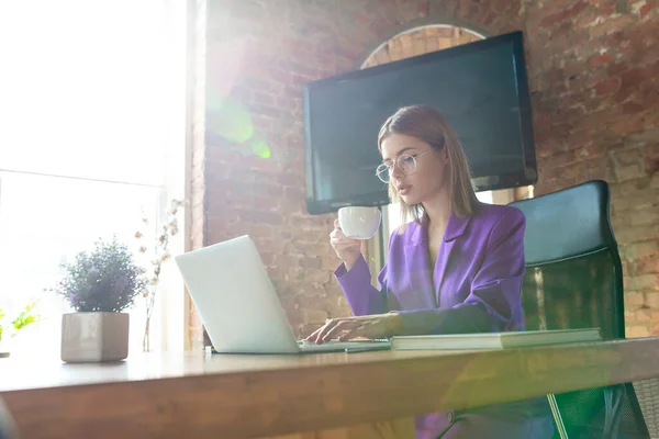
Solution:
<svg viewBox="0 0 659 439">
<path fill-rule="evenodd" d="M 71 313 L 62 316 L 62 360 L 120 361 L 129 356 L 126 313 Z"/>
</svg>

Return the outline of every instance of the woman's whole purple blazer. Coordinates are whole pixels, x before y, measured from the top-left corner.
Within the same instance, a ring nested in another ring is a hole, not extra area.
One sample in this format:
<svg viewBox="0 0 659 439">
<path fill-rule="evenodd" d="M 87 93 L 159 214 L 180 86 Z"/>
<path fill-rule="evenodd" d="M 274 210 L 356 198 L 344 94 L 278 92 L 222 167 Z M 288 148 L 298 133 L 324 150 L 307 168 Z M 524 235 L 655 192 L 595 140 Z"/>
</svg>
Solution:
<svg viewBox="0 0 659 439">
<path fill-rule="evenodd" d="M 431 267 L 427 230 L 410 223 L 402 234 L 391 235 L 388 262 L 378 277 L 380 290 L 371 285 L 362 257 L 349 272 L 342 264 L 335 277 L 355 315 L 398 311 L 406 331 L 416 333 L 417 324 L 439 309 L 451 311 L 445 313 L 448 317 L 434 328 L 435 334 L 524 330 L 525 226 L 524 214 L 512 206 L 481 204 L 470 217 L 451 214 L 437 262 Z M 545 403 L 546 398 L 539 399 L 540 405 Z M 491 406 L 490 413 L 524 412 L 532 406 L 523 402 Z M 534 412 L 544 414 L 544 408 Z M 436 438 L 457 418 L 453 410 L 418 416 L 416 435 Z"/>
</svg>

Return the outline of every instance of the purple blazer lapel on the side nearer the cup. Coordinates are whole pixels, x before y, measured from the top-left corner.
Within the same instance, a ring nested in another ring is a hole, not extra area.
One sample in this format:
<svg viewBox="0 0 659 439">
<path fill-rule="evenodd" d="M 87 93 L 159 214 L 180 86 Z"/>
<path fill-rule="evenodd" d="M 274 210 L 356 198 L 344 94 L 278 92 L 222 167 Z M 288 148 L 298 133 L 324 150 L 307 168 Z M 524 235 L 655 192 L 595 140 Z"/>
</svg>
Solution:
<svg viewBox="0 0 659 439">
<path fill-rule="evenodd" d="M 427 229 L 423 225 L 410 225 L 415 227 L 405 243 L 405 264 L 407 275 L 410 277 L 410 292 L 417 297 L 414 304 L 407 304 L 415 307 L 437 306 L 435 289 L 433 288 L 433 269 L 428 259 L 428 236 Z"/>
</svg>

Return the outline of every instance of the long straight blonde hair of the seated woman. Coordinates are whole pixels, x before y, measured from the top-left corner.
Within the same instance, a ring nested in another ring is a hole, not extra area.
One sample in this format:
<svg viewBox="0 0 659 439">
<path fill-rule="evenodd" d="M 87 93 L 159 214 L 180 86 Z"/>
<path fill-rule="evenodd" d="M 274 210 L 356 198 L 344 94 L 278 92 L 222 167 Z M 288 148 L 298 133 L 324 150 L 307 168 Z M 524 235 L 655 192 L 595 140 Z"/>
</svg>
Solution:
<svg viewBox="0 0 659 439">
<path fill-rule="evenodd" d="M 378 149 L 380 153 L 382 153 L 382 142 L 392 134 L 416 137 L 436 150 L 446 148 L 451 210 L 456 216 L 470 216 L 476 213 L 479 201 L 471 183 L 471 171 L 467 156 L 457 133 L 442 113 L 427 105 L 403 106 L 382 124 L 378 134 Z M 400 232 L 404 229 L 404 223 L 410 216 L 414 222 L 421 224 L 425 215 L 421 204 L 406 204 L 391 182 L 389 183 L 389 196 L 391 201 L 401 205 L 403 225 L 400 227 Z"/>
</svg>

